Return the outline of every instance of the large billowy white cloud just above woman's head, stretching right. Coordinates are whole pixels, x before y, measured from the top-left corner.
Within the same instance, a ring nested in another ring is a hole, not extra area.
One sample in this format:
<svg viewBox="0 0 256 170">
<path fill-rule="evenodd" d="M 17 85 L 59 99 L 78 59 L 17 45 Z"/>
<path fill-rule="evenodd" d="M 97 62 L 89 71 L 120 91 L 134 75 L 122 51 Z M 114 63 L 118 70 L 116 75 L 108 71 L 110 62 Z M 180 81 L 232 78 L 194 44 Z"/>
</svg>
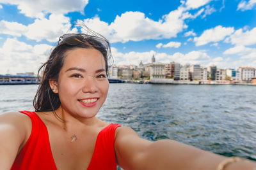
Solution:
<svg viewBox="0 0 256 170">
<path fill-rule="evenodd" d="M 184 8 L 171 11 L 161 20 L 154 21 L 145 17 L 144 13 L 127 11 L 116 16 L 114 22 L 108 24 L 100 21 L 99 17 L 84 20 L 94 31 L 106 36 L 111 42 L 141 41 L 143 39 L 162 39 L 176 37 L 188 27 L 184 24 L 191 15 L 184 12 Z"/>
</svg>

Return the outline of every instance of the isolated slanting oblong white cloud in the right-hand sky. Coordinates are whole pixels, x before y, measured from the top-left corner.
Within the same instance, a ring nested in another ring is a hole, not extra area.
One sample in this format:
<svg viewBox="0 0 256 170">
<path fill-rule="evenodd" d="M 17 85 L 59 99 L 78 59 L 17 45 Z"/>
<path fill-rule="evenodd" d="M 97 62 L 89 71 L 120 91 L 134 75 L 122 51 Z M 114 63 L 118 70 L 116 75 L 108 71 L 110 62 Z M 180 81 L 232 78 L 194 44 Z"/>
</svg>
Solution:
<svg viewBox="0 0 256 170">
<path fill-rule="evenodd" d="M 234 32 L 234 27 L 222 27 L 218 25 L 212 29 L 207 29 L 199 37 L 195 37 L 194 41 L 196 46 L 206 45 L 210 42 L 218 42 L 223 40 L 226 36 L 229 36 Z"/>
</svg>

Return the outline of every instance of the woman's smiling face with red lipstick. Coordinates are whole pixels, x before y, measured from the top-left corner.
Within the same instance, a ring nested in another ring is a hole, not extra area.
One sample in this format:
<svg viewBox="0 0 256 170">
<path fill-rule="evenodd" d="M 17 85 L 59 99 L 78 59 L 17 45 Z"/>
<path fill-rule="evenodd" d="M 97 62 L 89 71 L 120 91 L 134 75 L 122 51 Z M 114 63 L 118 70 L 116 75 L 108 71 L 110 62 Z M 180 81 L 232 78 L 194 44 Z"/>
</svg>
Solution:
<svg viewBox="0 0 256 170">
<path fill-rule="evenodd" d="M 74 48 L 65 56 L 56 85 L 61 108 L 74 117 L 92 118 L 108 94 L 104 57 L 94 48 Z"/>
</svg>

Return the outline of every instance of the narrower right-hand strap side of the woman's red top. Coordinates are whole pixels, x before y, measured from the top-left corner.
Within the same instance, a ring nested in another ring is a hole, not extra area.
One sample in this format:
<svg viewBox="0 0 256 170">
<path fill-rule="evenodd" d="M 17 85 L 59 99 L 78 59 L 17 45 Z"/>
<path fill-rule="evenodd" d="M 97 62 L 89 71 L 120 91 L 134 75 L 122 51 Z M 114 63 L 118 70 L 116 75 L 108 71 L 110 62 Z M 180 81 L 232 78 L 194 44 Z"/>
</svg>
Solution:
<svg viewBox="0 0 256 170">
<path fill-rule="evenodd" d="M 99 132 L 93 157 L 87 170 L 116 169 L 115 131 L 118 124 L 109 124 Z"/>
</svg>

